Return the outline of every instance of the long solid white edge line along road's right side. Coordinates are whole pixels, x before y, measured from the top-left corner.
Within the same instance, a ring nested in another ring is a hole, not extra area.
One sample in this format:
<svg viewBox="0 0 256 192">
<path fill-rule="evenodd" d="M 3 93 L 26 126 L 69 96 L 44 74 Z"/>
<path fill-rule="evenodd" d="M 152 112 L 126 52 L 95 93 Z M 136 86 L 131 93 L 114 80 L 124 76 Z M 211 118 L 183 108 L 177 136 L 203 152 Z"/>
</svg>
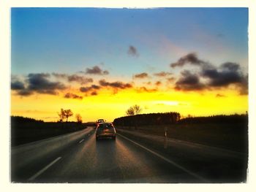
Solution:
<svg viewBox="0 0 256 192">
<path fill-rule="evenodd" d="M 189 171 L 188 169 L 184 168 L 183 166 L 181 166 L 181 165 L 179 165 L 179 164 L 176 164 L 174 161 L 171 161 L 170 159 L 165 158 L 164 156 L 160 155 L 159 153 L 156 153 L 156 152 L 154 152 L 153 150 L 150 150 L 150 149 L 148 149 L 147 147 L 144 147 L 143 145 L 138 144 L 138 142 L 132 141 L 131 139 L 129 139 L 129 138 L 127 138 L 127 137 L 124 137 L 124 136 L 121 135 L 121 134 L 118 134 L 118 136 L 123 137 L 124 139 L 127 139 L 129 142 L 132 142 L 132 143 L 134 143 L 135 145 L 138 145 L 138 146 L 142 147 L 144 150 L 147 150 L 148 152 L 150 152 L 150 153 L 156 155 L 157 157 L 162 158 L 162 160 L 167 161 L 169 164 L 172 164 L 172 165 L 178 167 L 179 169 L 183 170 L 184 172 L 187 172 L 188 174 L 192 175 L 193 177 L 196 177 L 197 179 L 202 180 L 202 181 L 205 182 L 205 183 L 208 183 L 208 180 L 206 180 L 205 178 L 200 177 L 198 174 L 195 174 L 195 173 Z"/>
</svg>

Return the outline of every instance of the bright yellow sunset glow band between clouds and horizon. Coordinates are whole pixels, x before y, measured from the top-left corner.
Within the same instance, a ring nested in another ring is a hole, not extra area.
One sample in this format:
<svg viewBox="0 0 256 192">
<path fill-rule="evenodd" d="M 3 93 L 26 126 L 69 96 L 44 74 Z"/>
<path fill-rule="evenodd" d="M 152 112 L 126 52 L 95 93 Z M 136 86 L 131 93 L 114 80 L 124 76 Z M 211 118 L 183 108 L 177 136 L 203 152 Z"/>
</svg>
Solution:
<svg viewBox="0 0 256 192">
<path fill-rule="evenodd" d="M 63 93 L 59 96 L 37 94 L 27 97 L 13 93 L 11 111 L 12 115 L 57 121 L 58 112 L 63 108 L 74 113 L 69 120 L 75 120 L 75 114 L 79 113 L 83 122 L 95 121 L 98 118 L 112 121 L 125 116 L 125 111 L 134 104 L 143 108 L 142 113 L 179 112 L 182 116 L 228 115 L 245 113 L 248 110 L 248 96 L 240 96 L 236 91 L 198 93 L 171 90 L 138 93 L 133 89 L 121 90 L 118 93 L 105 89 L 99 91 L 97 96 L 84 96 L 83 99 L 65 99 Z"/>
</svg>

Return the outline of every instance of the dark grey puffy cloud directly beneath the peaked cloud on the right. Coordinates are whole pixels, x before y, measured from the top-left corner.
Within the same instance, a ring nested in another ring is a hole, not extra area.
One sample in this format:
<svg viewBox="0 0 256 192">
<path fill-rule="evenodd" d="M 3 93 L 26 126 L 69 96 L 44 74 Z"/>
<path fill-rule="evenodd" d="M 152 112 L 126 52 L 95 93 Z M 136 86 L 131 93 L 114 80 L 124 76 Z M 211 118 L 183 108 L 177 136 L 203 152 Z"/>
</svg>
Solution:
<svg viewBox="0 0 256 192">
<path fill-rule="evenodd" d="M 197 74 L 192 74 L 191 72 L 184 70 L 181 72 L 180 79 L 176 82 L 176 90 L 184 91 L 198 91 L 205 88 L 203 83 L 200 82 Z"/>
</svg>

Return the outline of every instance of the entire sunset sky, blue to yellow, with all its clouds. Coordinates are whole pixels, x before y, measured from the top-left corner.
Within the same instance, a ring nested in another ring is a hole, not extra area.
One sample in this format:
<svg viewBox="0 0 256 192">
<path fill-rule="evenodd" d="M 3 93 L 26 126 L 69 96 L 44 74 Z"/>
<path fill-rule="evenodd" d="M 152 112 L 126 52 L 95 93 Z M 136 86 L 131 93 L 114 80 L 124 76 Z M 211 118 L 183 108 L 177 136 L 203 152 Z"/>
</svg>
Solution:
<svg viewBox="0 0 256 192">
<path fill-rule="evenodd" d="M 247 79 L 246 8 L 11 9 L 12 115 L 240 114 Z"/>
</svg>

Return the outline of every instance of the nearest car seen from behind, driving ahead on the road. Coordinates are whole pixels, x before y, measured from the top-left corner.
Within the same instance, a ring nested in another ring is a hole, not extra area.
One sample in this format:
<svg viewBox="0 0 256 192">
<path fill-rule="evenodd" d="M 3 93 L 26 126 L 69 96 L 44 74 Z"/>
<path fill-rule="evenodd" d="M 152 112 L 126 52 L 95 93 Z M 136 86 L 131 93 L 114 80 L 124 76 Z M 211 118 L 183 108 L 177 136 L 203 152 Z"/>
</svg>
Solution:
<svg viewBox="0 0 256 192">
<path fill-rule="evenodd" d="M 112 123 L 99 123 L 96 128 L 96 140 L 111 138 L 116 140 L 116 128 Z"/>
</svg>

